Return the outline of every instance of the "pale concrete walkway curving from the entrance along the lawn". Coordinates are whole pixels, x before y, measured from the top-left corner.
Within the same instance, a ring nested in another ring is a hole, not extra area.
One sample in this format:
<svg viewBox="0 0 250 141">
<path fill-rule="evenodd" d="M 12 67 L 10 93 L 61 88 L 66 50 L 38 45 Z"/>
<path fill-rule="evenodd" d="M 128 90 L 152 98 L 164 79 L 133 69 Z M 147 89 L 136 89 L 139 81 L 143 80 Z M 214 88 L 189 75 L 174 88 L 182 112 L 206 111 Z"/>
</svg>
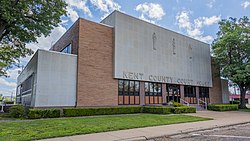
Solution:
<svg viewBox="0 0 250 141">
<path fill-rule="evenodd" d="M 194 114 L 186 114 L 199 117 L 209 117 L 214 120 L 189 122 L 181 124 L 136 128 L 129 130 L 111 131 L 103 133 L 94 133 L 86 135 L 76 135 L 61 138 L 45 139 L 43 141 L 127 141 L 127 140 L 145 140 L 154 137 L 168 136 L 183 132 L 192 132 L 203 129 L 210 129 L 233 124 L 250 122 L 249 112 L 214 112 L 198 111 Z"/>
</svg>

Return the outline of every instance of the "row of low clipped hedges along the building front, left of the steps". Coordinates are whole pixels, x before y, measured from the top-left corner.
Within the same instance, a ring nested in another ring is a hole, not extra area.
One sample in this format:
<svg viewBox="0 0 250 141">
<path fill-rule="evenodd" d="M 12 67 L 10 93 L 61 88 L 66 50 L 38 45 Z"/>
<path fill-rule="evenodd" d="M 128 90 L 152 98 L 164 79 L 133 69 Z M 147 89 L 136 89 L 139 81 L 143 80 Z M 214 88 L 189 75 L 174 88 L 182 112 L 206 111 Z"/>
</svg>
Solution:
<svg viewBox="0 0 250 141">
<path fill-rule="evenodd" d="M 126 106 L 126 107 L 98 107 L 98 108 L 64 108 L 64 117 L 77 116 L 95 116 L 95 115 L 114 115 L 114 114 L 135 114 L 135 113 L 152 113 L 152 114 L 181 114 L 195 113 L 196 108 L 181 106 Z M 61 117 L 60 109 L 30 109 L 28 112 L 29 119 L 39 118 L 57 118 Z"/>
</svg>

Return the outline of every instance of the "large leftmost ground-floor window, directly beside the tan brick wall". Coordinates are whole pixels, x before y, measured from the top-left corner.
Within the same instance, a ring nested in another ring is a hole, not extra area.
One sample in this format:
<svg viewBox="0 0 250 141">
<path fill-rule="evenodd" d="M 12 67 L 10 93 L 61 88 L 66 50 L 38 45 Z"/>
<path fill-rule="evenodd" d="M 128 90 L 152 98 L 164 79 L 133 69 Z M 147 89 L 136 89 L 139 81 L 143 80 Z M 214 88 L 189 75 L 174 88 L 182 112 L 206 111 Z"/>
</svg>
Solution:
<svg viewBox="0 0 250 141">
<path fill-rule="evenodd" d="M 139 81 L 118 80 L 118 104 L 139 105 L 140 104 Z"/>
</svg>

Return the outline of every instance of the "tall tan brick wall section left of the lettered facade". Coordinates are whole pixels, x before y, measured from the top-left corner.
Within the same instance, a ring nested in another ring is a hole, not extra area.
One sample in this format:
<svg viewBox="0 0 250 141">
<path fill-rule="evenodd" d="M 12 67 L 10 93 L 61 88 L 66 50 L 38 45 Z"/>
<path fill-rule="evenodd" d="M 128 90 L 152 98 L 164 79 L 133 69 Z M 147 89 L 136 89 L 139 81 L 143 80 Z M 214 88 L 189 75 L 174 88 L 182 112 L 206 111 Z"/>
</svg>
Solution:
<svg viewBox="0 0 250 141">
<path fill-rule="evenodd" d="M 80 19 L 77 106 L 117 106 L 113 28 Z"/>
</svg>

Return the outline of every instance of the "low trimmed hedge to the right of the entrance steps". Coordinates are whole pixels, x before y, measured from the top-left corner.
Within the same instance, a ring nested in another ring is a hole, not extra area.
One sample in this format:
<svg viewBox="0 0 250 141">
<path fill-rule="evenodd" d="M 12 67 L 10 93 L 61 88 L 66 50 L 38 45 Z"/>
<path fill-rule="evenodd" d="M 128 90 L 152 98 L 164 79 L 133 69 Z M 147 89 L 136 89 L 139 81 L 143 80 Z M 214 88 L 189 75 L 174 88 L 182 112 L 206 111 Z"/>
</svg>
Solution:
<svg viewBox="0 0 250 141">
<path fill-rule="evenodd" d="M 207 108 L 212 111 L 235 111 L 238 110 L 238 104 L 208 104 Z"/>
</svg>

